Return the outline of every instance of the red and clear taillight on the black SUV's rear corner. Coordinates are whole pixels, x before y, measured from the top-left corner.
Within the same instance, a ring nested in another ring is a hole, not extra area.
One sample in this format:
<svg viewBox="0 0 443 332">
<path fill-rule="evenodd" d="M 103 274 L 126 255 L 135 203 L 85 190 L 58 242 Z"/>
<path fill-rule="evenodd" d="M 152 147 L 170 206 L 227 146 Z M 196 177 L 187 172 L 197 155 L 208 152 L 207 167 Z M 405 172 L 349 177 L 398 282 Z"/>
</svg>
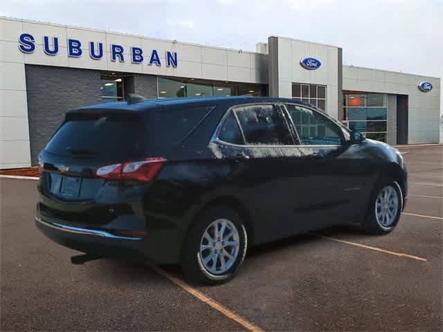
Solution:
<svg viewBox="0 0 443 332">
<path fill-rule="evenodd" d="M 146 158 L 138 161 L 107 165 L 100 167 L 96 175 L 110 180 L 150 181 L 165 165 L 166 159 L 161 157 Z"/>
</svg>

